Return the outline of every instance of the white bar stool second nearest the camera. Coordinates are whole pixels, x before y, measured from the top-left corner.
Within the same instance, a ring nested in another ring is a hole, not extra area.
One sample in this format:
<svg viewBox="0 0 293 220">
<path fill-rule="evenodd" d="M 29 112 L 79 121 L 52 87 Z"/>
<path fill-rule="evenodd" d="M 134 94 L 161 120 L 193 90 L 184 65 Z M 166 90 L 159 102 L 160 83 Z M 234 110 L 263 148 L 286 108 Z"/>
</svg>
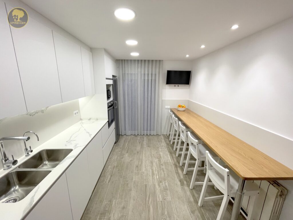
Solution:
<svg viewBox="0 0 293 220">
<path fill-rule="evenodd" d="M 194 185 L 203 185 L 204 182 L 195 182 L 195 178 L 197 175 L 198 170 L 205 170 L 206 166 L 204 167 L 199 167 L 201 165 L 202 161 L 205 161 L 206 165 L 206 151 L 211 152 L 212 157 L 217 158 L 217 155 L 209 149 L 209 147 L 202 143 L 200 144 L 199 141 L 196 140 L 195 136 L 191 132 L 187 132 L 188 135 L 188 145 L 189 145 L 189 150 L 188 150 L 188 155 L 187 159 L 185 162 L 185 167 L 184 167 L 184 174 L 188 170 L 193 170 L 193 175 L 190 183 L 190 189 L 193 189 Z M 190 155 L 193 155 L 193 157 L 196 159 L 195 167 L 194 168 L 188 168 L 188 164 L 190 163 Z M 214 185 L 213 183 L 208 183 L 208 185 Z"/>
</svg>

